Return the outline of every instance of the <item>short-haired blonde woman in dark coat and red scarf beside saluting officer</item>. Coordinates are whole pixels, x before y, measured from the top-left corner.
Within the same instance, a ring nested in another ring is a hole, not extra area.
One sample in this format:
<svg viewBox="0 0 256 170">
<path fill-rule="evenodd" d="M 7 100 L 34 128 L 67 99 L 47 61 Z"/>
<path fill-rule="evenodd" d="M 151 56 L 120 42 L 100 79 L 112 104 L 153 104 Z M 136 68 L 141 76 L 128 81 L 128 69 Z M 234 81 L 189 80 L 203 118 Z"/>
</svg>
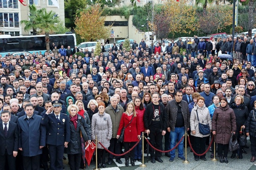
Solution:
<svg viewBox="0 0 256 170">
<path fill-rule="evenodd" d="M 78 106 L 71 104 L 68 106 L 69 123 L 70 123 L 70 143 L 64 152 L 68 154 L 70 170 L 79 170 L 82 157 L 80 127 L 84 127 L 88 136 L 88 142 L 91 141 L 90 128 L 84 118 L 78 114 Z M 82 123 L 82 124 L 81 124 Z"/>
</svg>

